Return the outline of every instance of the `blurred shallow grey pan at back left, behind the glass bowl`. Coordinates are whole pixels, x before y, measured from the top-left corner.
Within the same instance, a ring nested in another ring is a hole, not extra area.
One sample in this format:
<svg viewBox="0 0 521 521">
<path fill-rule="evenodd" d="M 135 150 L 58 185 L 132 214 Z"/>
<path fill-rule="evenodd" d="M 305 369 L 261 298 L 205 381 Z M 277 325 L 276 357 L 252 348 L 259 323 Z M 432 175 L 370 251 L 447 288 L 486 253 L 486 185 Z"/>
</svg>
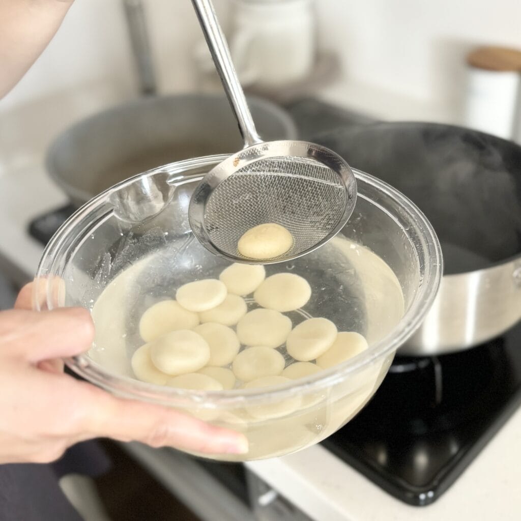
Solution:
<svg viewBox="0 0 521 521">
<path fill-rule="evenodd" d="M 295 139 L 293 120 L 277 105 L 248 97 L 266 140 Z M 180 159 L 243 147 L 224 94 L 149 96 L 78 122 L 47 152 L 54 181 L 78 206 L 123 179 Z"/>
</svg>

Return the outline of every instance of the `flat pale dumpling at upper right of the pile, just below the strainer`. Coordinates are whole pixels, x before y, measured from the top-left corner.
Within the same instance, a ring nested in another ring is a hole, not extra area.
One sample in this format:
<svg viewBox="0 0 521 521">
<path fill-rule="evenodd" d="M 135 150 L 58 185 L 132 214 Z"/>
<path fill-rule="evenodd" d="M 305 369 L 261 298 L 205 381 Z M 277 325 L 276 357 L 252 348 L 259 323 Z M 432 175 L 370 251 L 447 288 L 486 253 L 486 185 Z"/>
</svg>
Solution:
<svg viewBox="0 0 521 521">
<path fill-rule="evenodd" d="M 306 279 L 293 273 L 271 275 L 253 294 L 255 302 L 275 311 L 294 311 L 303 307 L 311 297 Z"/>
</svg>

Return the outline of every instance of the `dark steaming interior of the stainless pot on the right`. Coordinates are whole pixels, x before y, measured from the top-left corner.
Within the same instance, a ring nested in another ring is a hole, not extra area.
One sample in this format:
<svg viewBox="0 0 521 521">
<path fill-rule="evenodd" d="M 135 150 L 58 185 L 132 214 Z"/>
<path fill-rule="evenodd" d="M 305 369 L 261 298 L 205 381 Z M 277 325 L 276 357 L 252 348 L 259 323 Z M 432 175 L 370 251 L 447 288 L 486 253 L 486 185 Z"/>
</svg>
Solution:
<svg viewBox="0 0 521 521">
<path fill-rule="evenodd" d="M 354 168 L 391 184 L 425 213 L 444 274 L 521 254 L 521 147 L 436 123 L 375 123 L 320 135 Z"/>
</svg>

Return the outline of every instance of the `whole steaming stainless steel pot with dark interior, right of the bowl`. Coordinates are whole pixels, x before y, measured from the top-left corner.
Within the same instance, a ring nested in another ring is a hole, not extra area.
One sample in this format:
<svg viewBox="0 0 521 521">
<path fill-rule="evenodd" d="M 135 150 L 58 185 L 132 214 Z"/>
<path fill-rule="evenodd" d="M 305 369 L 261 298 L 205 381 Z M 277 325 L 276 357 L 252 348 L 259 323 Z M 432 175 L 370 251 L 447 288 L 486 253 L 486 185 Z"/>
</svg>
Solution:
<svg viewBox="0 0 521 521">
<path fill-rule="evenodd" d="M 444 276 L 402 355 L 460 351 L 521 319 L 521 147 L 435 123 L 375 123 L 315 140 L 415 202 L 440 239 Z"/>
</svg>

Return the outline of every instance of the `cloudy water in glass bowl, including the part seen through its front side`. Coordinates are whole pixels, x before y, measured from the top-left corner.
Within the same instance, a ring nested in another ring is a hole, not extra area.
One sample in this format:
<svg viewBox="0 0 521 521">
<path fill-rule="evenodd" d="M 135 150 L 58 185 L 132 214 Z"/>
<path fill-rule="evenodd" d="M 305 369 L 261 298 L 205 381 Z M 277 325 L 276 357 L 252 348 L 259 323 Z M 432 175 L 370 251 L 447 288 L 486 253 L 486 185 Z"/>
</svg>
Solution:
<svg viewBox="0 0 521 521">
<path fill-rule="evenodd" d="M 151 240 L 147 234 L 157 238 L 158 233 L 164 234 L 152 228 L 140 241 Z M 126 251 L 125 247 L 119 250 Z M 130 257 L 135 258 L 132 254 Z M 207 252 L 191 233 L 165 235 L 160 247 L 122 270 L 94 303 L 96 341 L 90 351 L 92 359 L 111 373 L 132 378 L 130 358 L 144 343 L 139 336 L 143 312 L 160 300 L 175 298 L 177 288 L 184 283 L 218 278 L 228 265 Z M 287 314 L 293 326 L 309 317 L 325 317 L 339 331 L 363 334 L 370 349 L 403 316 L 404 297 L 394 272 L 379 256 L 344 237 L 336 237 L 291 263 L 266 266 L 267 276 L 283 271 L 304 277 L 313 291 L 303 309 Z M 249 297 L 246 301 L 251 310 L 257 305 Z M 284 346 L 278 349 L 286 365 L 294 362 Z M 356 414 L 373 394 L 391 359 L 392 355 L 377 366 L 367 367 L 335 389 L 310 393 L 302 398 L 300 407 L 283 417 L 253 418 L 244 408 L 191 412 L 243 430 L 250 442 L 248 459 L 286 454 L 325 438 Z M 222 457 L 230 459 L 229 455 Z"/>
</svg>

